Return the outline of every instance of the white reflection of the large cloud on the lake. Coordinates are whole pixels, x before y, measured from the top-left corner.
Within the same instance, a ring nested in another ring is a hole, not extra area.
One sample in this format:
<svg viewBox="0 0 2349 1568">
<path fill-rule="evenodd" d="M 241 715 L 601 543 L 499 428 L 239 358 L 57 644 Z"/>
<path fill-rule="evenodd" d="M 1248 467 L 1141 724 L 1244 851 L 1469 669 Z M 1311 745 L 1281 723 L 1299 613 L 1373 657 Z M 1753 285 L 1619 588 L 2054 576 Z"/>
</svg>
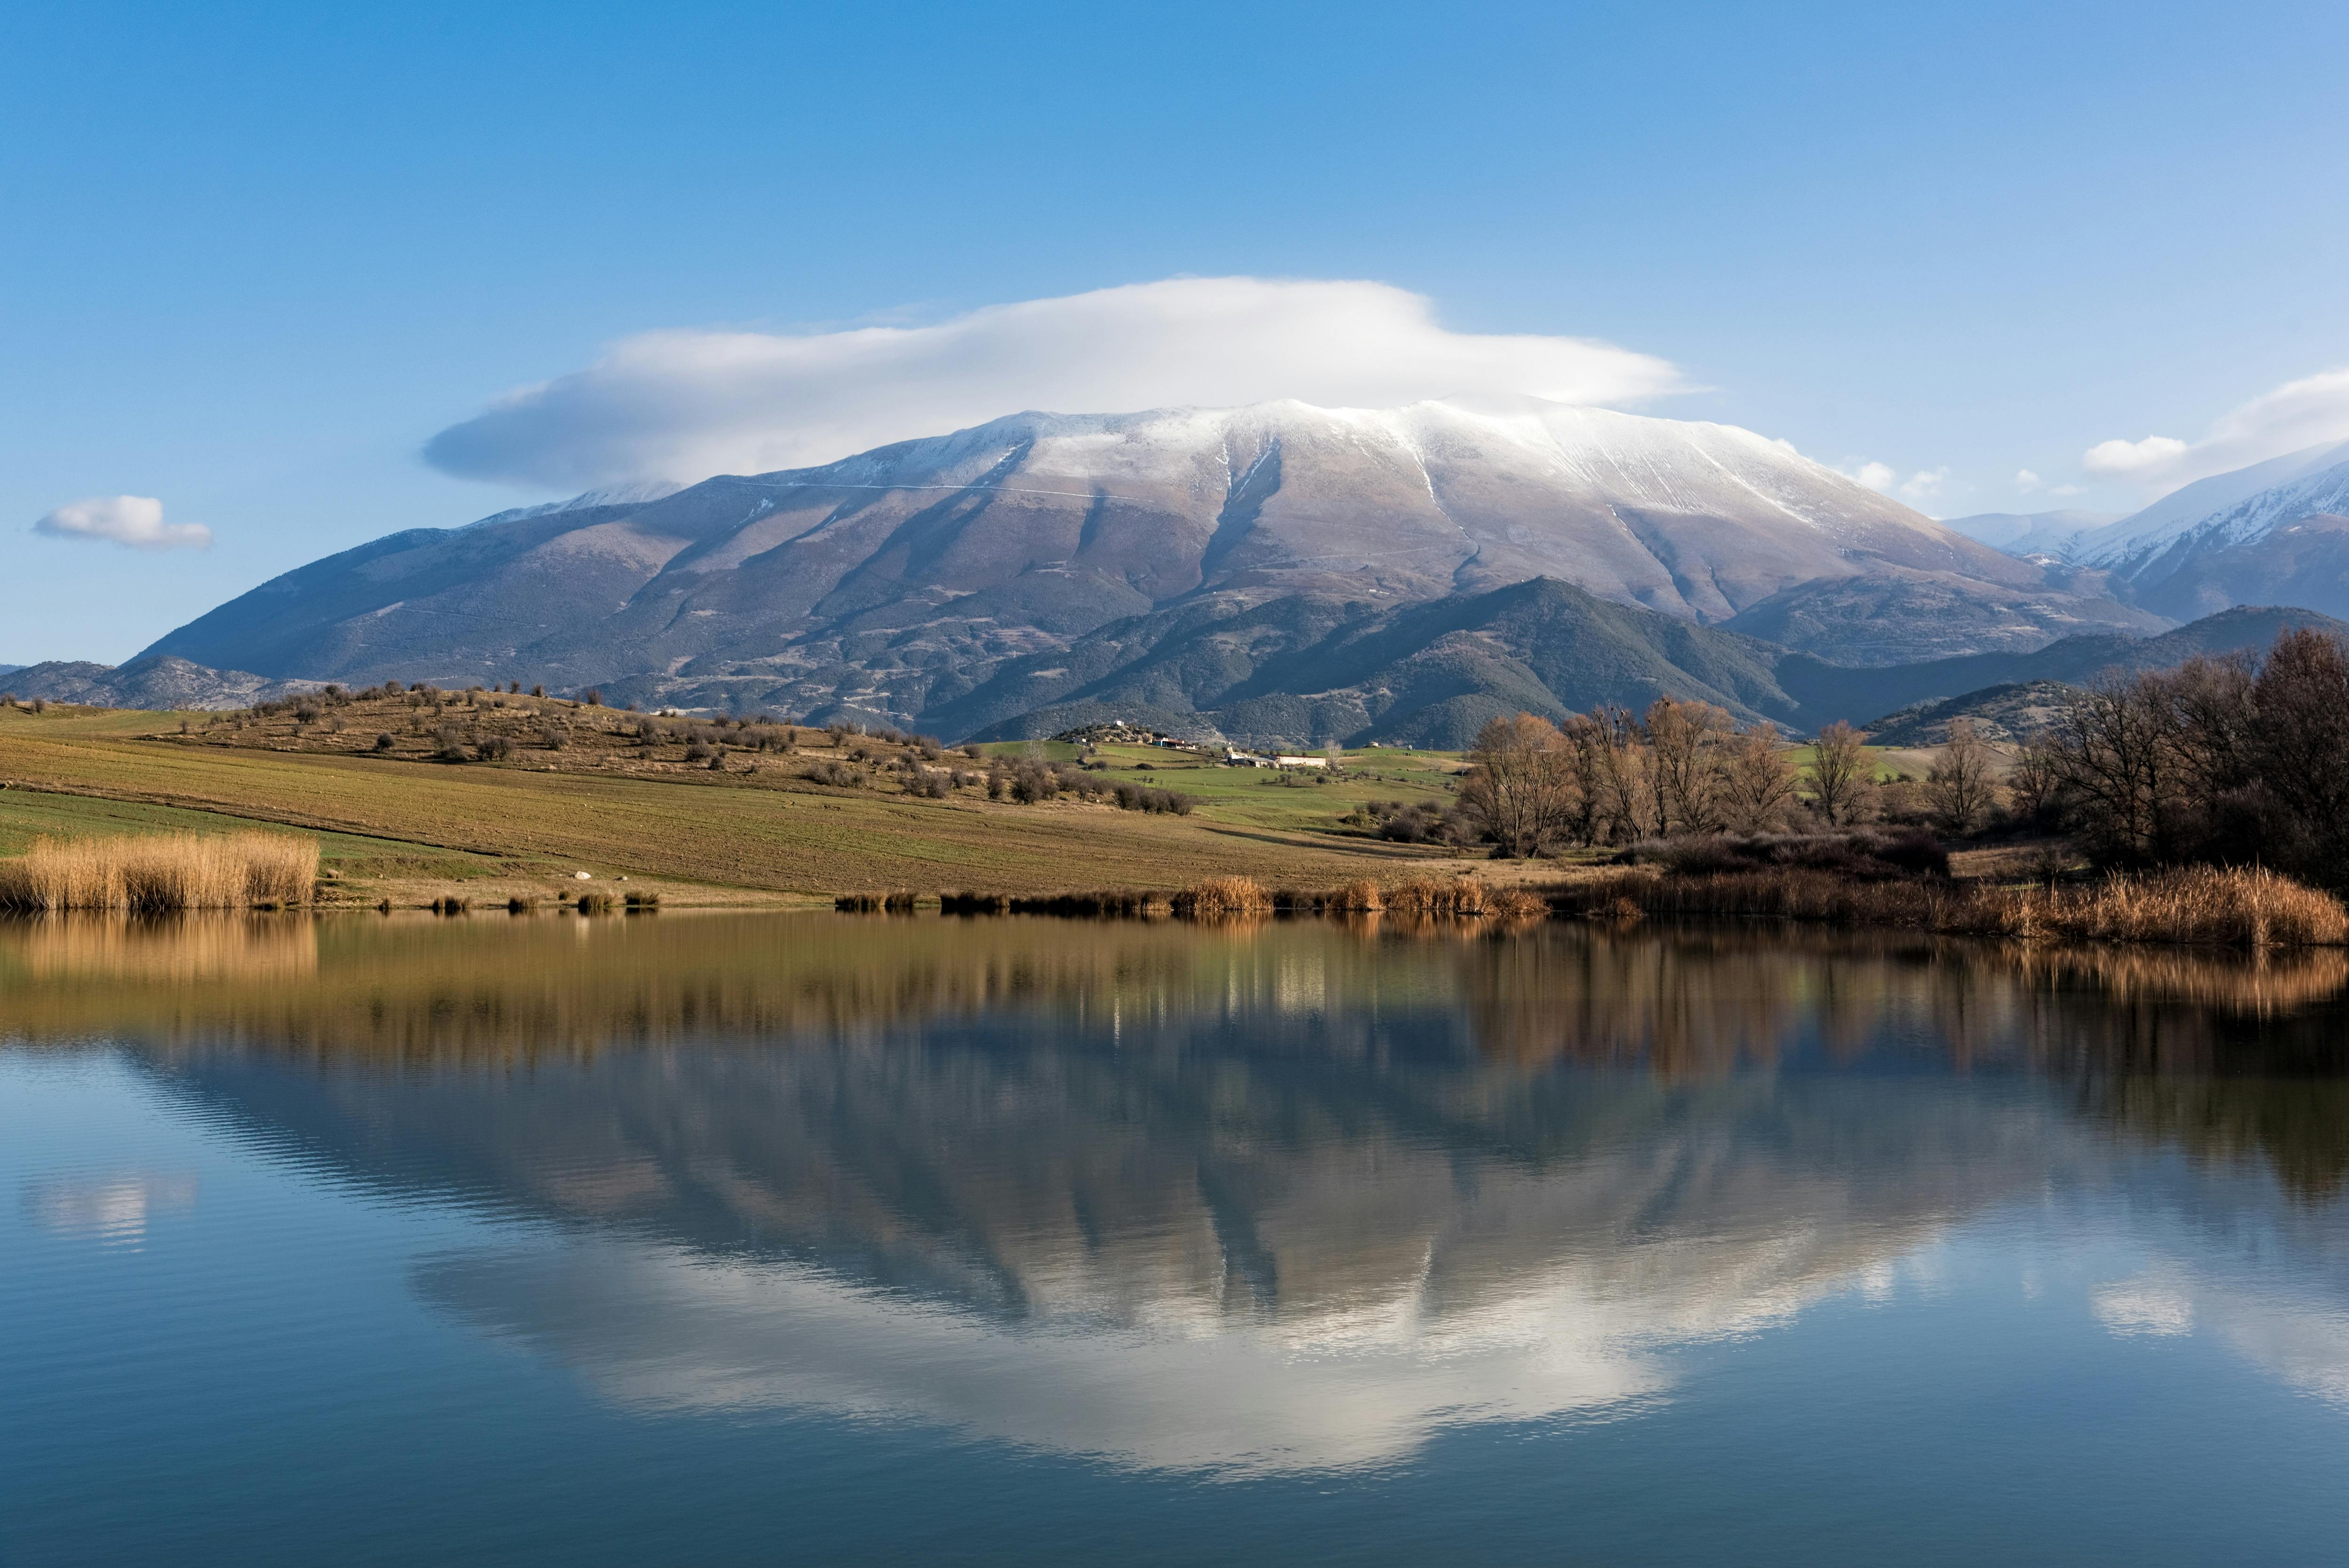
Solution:
<svg viewBox="0 0 2349 1568">
<path fill-rule="evenodd" d="M 1658 1251 L 1672 1253 L 1661 1272 L 1691 1262 L 1691 1248 Z M 1670 1347 L 1762 1328 L 1835 1288 L 1802 1253 L 1710 1260 L 1750 1295 L 1642 1295 L 1586 1260 L 1454 1312 L 1407 1291 L 1306 1321 L 1167 1302 L 1118 1328 L 1015 1326 L 815 1267 L 608 1239 L 444 1255 L 418 1291 L 627 1406 L 926 1420 L 1123 1465 L 1261 1474 L 1393 1462 L 1456 1422 L 1658 1396 Z"/>
</svg>

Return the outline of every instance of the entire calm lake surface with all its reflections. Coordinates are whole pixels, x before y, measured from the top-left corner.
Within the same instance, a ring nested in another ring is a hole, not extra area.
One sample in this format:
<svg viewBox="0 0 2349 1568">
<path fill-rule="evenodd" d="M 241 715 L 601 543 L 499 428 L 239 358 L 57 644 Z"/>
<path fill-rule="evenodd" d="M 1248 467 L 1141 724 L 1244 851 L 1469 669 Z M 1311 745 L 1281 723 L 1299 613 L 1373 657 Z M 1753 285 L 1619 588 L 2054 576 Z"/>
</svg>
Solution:
<svg viewBox="0 0 2349 1568">
<path fill-rule="evenodd" d="M 2344 969 L 0 926 L 0 1561 L 2340 1563 Z"/>
</svg>

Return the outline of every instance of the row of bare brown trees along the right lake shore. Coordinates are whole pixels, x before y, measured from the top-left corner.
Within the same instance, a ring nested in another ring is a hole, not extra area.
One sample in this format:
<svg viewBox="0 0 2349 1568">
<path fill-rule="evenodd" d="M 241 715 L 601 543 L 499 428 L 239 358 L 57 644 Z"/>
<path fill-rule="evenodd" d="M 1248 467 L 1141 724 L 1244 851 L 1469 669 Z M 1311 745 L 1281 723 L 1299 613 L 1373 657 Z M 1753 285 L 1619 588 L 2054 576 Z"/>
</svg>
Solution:
<svg viewBox="0 0 2349 1568">
<path fill-rule="evenodd" d="M 2283 632 L 2264 658 L 2107 672 L 2008 764 L 1971 722 L 1924 778 L 1886 776 L 1837 722 L 1797 769 L 1776 724 L 1656 698 L 1553 724 L 1492 719 L 1447 827 L 1503 856 L 1863 823 L 2069 835 L 2114 867 L 2269 865 L 2349 884 L 2349 646 Z"/>
</svg>

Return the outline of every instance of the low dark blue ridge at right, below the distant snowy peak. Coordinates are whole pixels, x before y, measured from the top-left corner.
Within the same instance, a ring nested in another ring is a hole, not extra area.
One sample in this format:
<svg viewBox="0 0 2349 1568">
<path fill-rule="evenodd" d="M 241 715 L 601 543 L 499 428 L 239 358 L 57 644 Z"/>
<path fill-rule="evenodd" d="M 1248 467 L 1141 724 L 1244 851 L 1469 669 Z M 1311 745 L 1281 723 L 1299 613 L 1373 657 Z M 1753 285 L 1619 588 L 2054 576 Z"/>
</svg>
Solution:
<svg viewBox="0 0 2349 1568">
<path fill-rule="evenodd" d="M 1867 724 L 1917 703 L 1980 693 L 1987 686 L 2025 682 L 2077 686 L 2114 668 L 2159 670 L 2196 654 L 2264 654 L 2279 632 L 2295 625 L 2349 637 L 2349 621 L 2316 611 L 2236 607 L 2159 637 L 2062 637 L 2030 654 L 1973 654 L 1877 670 L 1830 665 L 1806 654 L 1790 654 L 1778 661 L 1773 675 L 1788 698 L 1799 705 L 1806 729 L 1835 719 Z"/>
</svg>

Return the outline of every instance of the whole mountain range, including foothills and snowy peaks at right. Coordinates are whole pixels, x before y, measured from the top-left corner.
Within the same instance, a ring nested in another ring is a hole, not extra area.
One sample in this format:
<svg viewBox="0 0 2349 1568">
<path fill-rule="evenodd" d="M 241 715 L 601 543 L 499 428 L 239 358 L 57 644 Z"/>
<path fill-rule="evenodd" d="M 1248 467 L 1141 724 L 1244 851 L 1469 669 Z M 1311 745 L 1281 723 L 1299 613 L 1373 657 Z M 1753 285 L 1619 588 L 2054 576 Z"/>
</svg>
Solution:
<svg viewBox="0 0 2349 1568">
<path fill-rule="evenodd" d="M 1809 729 L 2189 642 L 2264 646 L 2309 616 L 2154 632 L 2241 597 L 2349 599 L 2318 595 L 2349 548 L 2323 510 L 2349 463 L 2328 451 L 2349 458 L 2123 520 L 1945 527 L 1748 430 L 1541 400 L 1017 414 L 392 534 L 122 670 L 9 682 L 162 708 L 519 679 L 947 738 L 1128 719 L 1461 745 L 1494 712 L 1658 693 Z"/>
</svg>

